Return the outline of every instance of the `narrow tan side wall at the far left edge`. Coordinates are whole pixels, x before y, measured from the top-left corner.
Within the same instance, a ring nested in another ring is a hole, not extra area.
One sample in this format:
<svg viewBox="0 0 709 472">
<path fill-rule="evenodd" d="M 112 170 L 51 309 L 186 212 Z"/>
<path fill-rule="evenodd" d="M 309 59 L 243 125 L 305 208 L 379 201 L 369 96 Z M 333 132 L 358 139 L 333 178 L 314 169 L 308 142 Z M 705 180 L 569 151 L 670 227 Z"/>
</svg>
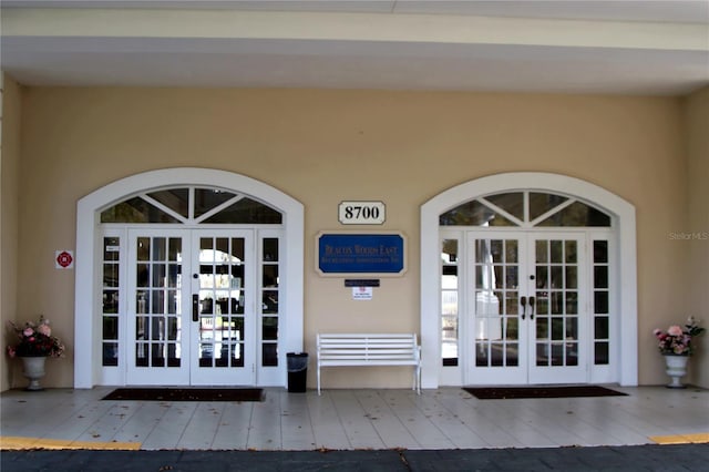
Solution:
<svg viewBox="0 0 709 472">
<path fill-rule="evenodd" d="M 20 188 L 20 122 L 21 89 L 11 78 L 2 80 L 2 150 L 0 154 L 0 391 L 7 390 L 17 374 L 6 356 L 7 341 L 13 338 L 6 331 L 8 320 L 21 319 L 17 310 L 18 270 L 18 196 Z"/>
</svg>

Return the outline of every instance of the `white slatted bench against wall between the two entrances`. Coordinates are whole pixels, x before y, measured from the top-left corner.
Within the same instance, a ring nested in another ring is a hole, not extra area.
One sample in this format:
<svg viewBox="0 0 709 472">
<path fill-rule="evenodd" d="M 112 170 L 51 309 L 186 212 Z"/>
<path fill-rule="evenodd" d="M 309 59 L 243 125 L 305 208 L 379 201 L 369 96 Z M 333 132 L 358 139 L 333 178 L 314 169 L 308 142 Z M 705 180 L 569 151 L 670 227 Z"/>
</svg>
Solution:
<svg viewBox="0 0 709 472">
<path fill-rule="evenodd" d="M 346 366 L 413 366 L 413 390 L 421 393 L 421 347 L 417 335 L 318 335 L 320 368 Z"/>
</svg>

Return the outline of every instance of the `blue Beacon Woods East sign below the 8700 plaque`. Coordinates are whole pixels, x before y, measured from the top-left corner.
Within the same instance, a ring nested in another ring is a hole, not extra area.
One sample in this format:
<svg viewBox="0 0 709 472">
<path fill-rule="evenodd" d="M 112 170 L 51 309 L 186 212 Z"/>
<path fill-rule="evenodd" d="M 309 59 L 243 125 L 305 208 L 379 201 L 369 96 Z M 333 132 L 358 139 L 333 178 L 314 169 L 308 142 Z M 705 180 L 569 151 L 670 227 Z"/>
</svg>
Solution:
<svg viewBox="0 0 709 472">
<path fill-rule="evenodd" d="M 400 274 L 403 237 L 397 234 L 323 234 L 318 238 L 318 268 L 323 274 Z"/>
</svg>

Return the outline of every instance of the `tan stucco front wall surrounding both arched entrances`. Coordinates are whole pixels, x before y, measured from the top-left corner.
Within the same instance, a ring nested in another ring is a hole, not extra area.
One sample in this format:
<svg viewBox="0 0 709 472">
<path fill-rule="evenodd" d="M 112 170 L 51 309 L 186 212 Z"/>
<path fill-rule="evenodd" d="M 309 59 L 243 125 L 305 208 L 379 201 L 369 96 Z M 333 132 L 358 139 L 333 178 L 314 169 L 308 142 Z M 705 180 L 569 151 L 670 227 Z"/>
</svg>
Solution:
<svg viewBox="0 0 709 472">
<path fill-rule="evenodd" d="M 73 379 L 73 271 L 54 250 L 74 249 L 75 204 L 135 173 L 204 166 L 240 173 L 306 208 L 306 349 L 328 330 L 419 329 L 419 209 L 484 175 L 554 172 L 614 192 L 637 207 L 639 380 L 666 376 L 651 330 L 686 308 L 687 167 L 679 99 L 428 92 L 28 89 L 22 103 L 18 304 L 43 312 L 66 339 L 66 360 L 45 383 Z M 387 204 L 409 238 L 409 270 L 352 301 L 342 279 L 314 267 L 315 236 L 342 229 L 342 199 Z M 431 268 L 425 268 L 431 269 Z M 310 371 L 310 384 L 312 384 Z M 408 386 L 404 369 L 328 373 L 331 387 Z"/>
</svg>

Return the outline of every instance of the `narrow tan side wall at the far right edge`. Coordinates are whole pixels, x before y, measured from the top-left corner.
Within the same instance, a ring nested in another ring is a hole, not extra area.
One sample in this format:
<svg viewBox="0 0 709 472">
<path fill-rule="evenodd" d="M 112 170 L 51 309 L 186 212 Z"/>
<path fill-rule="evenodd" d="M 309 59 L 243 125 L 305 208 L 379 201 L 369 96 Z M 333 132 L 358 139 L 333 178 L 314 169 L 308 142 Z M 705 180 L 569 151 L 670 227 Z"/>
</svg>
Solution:
<svg viewBox="0 0 709 472">
<path fill-rule="evenodd" d="M 685 100 L 685 120 L 689 171 L 689 219 L 685 233 L 690 238 L 680 244 L 689 249 L 687 311 L 709 329 L 709 88 Z M 699 338 L 690 369 L 690 381 L 709 388 L 709 331 Z"/>
</svg>

